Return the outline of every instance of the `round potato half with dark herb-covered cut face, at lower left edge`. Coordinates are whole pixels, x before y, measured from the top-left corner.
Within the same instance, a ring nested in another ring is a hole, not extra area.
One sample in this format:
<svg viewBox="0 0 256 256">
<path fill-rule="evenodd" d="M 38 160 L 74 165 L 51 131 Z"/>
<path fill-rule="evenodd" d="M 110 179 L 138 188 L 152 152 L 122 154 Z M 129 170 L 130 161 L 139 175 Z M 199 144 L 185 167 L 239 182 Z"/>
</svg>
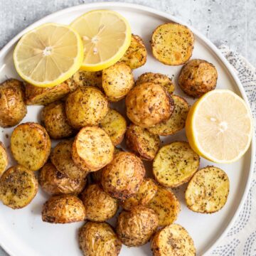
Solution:
<svg viewBox="0 0 256 256">
<path fill-rule="evenodd" d="M 36 176 L 23 166 L 10 167 L 0 178 L 0 200 L 13 209 L 27 206 L 37 191 Z"/>
</svg>

